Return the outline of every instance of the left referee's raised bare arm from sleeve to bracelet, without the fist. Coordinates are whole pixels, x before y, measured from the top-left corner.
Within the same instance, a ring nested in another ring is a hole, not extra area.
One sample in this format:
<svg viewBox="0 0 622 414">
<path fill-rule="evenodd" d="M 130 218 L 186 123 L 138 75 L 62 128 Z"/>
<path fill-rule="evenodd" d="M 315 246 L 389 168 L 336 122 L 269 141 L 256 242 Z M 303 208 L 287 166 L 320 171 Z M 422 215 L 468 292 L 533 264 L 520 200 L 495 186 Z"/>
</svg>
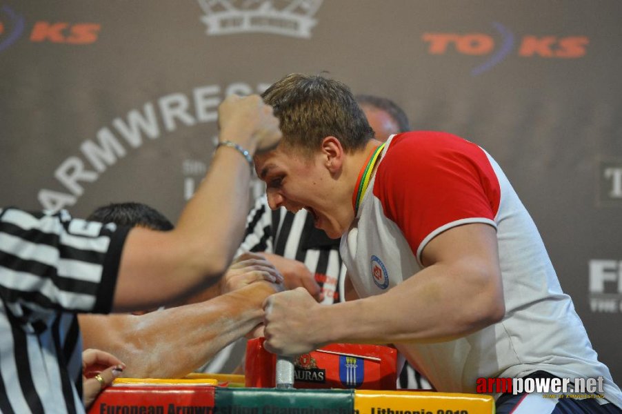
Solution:
<svg viewBox="0 0 622 414">
<path fill-rule="evenodd" d="M 221 148 L 177 228 L 163 233 L 132 229 L 123 248 L 114 310 L 180 301 L 216 283 L 243 235 L 249 179 L 250 166 L 241 154 Z"/>
</svg>

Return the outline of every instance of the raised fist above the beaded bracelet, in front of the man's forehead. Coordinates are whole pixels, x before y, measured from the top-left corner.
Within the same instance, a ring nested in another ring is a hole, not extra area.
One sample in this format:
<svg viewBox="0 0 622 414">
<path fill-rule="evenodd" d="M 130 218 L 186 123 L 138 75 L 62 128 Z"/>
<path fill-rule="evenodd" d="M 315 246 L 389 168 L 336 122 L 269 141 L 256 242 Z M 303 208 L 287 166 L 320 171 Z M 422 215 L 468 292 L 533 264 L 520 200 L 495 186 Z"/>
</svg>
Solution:
<svg viewBox="0 0 622 414">
<path fill-rule="evenodd" d="M 219 139 L 239 144 L 251 155 L 271 150 L 281 139 L 279 119 L 259 95 L 226 97 L 218 108 L 218 124 Z"/>
</svg>

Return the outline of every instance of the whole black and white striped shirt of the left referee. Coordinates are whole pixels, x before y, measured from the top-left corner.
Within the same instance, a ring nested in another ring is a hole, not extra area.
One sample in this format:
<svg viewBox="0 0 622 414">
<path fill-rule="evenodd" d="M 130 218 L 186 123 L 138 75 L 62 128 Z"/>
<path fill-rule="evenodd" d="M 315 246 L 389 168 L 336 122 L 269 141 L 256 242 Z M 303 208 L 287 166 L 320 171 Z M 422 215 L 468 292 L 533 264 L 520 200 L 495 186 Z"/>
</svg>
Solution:
<svg viewBox="0 0 622 414">
<path fill-rule="evenodd" d="M 0 412 L 83 413 L 75 313 L 108 313 L 127 228 L 0 209 Z"/>
</svg>

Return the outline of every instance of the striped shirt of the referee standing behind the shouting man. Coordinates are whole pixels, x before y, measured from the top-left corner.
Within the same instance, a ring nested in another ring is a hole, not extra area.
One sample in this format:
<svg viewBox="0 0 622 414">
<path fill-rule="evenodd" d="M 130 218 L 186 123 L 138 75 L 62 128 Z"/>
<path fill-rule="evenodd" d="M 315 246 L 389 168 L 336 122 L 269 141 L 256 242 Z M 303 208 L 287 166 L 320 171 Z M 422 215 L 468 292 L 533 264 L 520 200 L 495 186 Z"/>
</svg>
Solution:
<svg viewBox="0 0 622 414">
<path fill-rule="evenodd" d="M 323 304 L 343 301 L 345 265 L 339 255 L 339 239 L 330 239 L 323 230 L 315 228 L 307 210 L 290 213 L 281 207 L 270 210 L 268 197 L 259 197 L 246 220 L 246 234 L 238 250 L 274 253 L 303 262 L 321 286 Z M 408 362 L 398 379 L 398 388 L 429 389 L 428 380 Z"/>
</svg>

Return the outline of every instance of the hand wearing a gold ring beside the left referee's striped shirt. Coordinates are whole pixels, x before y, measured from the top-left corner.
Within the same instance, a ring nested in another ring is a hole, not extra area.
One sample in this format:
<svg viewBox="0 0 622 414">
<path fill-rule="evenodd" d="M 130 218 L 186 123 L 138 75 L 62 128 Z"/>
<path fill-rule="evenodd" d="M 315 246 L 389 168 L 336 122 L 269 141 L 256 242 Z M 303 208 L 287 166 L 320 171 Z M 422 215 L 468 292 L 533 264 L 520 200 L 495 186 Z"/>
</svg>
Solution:
<svg viewBox="0 0 622 414">
<path fill-rule="evenodd" d="M 82 400 L 89 408 L 97 395 L 110 384 L 114 378 L 123 373 L 126 364 L 117 357 L 99 349 L 86 349 L 82 353 Z"/>
</svg>

